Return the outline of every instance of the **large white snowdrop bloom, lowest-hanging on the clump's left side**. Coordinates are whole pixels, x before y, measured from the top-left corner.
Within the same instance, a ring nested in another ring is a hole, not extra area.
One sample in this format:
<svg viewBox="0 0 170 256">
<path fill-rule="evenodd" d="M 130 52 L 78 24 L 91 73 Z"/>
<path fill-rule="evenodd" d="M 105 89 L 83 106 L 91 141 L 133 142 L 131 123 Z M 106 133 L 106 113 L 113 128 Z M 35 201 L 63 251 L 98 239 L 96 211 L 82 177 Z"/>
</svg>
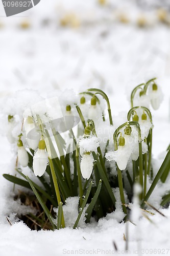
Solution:
<svg viewBox="0 0 170 256">
<path fill-rule="evenodd" d="M 38 150 L 35 152 L 33 157 L 33 171 L 35 176 L 41 177 L 45 173 L 47 162 L 45 141 L 40 140 L 38 144 Z"/>
</svg>

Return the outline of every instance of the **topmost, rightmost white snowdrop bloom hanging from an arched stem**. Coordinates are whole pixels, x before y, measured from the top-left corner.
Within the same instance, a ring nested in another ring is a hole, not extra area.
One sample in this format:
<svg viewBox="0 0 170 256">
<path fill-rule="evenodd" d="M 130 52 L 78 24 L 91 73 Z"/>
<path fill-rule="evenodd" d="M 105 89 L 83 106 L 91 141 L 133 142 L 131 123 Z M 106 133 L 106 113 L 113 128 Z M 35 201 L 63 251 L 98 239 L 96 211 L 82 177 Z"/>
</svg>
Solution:
<svg viewBox="0 0 170 256">
<path fill-rule="evenodd" d="M 153 83 L 152 90 L 149 93 L 150 99 L 151 99 L 151 105 L 154 110 L 158 110 L 159 106 L 162 101 L 162 91 L 160 88 L 158 89 L 158 86 L 156 83 Z"/>
</svg>

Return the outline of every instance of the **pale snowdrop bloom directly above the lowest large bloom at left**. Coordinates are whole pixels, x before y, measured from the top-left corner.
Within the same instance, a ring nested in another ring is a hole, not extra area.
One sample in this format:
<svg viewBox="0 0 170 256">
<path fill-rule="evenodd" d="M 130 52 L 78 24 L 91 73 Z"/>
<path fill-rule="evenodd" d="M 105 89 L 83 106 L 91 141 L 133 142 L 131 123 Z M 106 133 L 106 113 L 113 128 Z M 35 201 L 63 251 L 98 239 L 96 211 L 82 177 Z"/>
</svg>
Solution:
<svg viewBox="0 0 170 256">
<path fill-rule="evenodd" d="M 33 122 L 33 118 L 31 116 L 28 116 L 23 124 L 26 131 L 28 145 L 30 148 L 32 148 L 32 150 L 36 150 L 38 148 L 38 143 L 41 135 L 36 131 L 36 126 Z"/>
</svg>

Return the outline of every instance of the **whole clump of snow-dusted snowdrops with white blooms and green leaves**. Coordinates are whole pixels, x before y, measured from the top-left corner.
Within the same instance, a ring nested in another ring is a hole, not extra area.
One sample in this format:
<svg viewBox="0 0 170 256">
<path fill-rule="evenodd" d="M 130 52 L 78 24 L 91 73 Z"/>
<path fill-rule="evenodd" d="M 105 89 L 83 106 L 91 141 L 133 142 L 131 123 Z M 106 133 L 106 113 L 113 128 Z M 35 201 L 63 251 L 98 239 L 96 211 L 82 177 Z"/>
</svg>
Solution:
<svg viewBox="0 0 170 256">
<path fill-rule="evenodd" d="M 106 102 L 107 113 L 102 101 Z M 9 113 L 9 141 L 17 146 L 16 174 L 4 174 L 4 177 L 33 191 L 42 211 L 30 215 L 33 222 L 36 221 L 40 228 L 64 228 L 63 205 L 70 197 L 79 198 L 73 228 L 79 226 L 81 217 L 86 223 L 92 217 L 98 221 L 116 210 L 115 189 L 119 189 L 122 202 L 122 221 L 127 221 L 130 210 L 125 199 L 132 202 L 136 184 L 141 188 L 140 207 L 146 208 L 158 181 L 164 183 L 169 173 L 169 148 L 156 176 L 152 170 L 150 107 L 157 110 L 161 101 L 156 78 L 139 84 L 132 91 L 127 120 L 116 127 L 109 98 L 100 89 L 88 89 L 68 101 L 61 97 L 60 113 L 53 98 L 45 101 L 46 105 L 32 105 L 25 112 L 16 139 L 12 131 L 16 121 Z M 167 194 L 161 206 L 169 201 L 170 194 Z"/>
</svg>

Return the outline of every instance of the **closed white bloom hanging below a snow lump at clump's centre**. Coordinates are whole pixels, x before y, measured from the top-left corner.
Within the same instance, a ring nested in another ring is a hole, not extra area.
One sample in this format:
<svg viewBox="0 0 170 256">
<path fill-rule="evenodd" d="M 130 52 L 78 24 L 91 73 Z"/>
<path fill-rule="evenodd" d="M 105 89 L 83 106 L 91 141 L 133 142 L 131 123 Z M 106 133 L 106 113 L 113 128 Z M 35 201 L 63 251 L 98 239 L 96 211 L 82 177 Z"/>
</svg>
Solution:
<svg viewBox="0 0 170 256">
<path fill-rule="evenodd" d="M 90 152 L 86 152 L 83 154 L 81 164 L 80 164 L 80 169 L 81 169 L 81 174 L 84 179 L 89 179 L 92 171 L 93 171 L 93 156 Z"/>
</svg>

